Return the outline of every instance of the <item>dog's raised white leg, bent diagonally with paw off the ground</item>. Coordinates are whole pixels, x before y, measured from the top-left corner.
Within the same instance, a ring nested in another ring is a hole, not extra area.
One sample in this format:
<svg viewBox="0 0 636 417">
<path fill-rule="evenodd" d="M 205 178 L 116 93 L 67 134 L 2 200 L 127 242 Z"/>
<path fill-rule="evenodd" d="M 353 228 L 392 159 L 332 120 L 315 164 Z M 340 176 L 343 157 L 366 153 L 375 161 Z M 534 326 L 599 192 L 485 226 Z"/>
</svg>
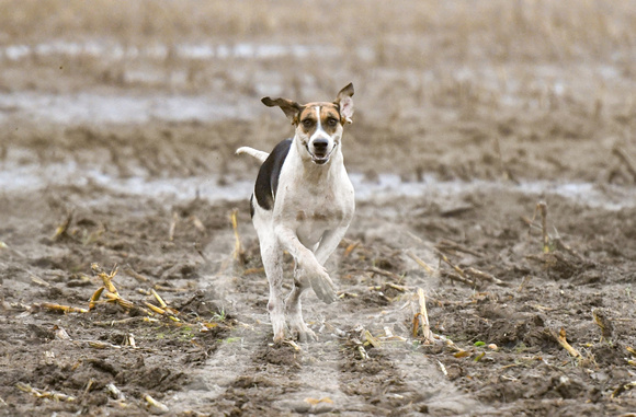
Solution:
<svg viewBox="0 0 636 417">
<path fill-rule="evenodd" d="M 299 268 L 298 274 L 308 279 L 316 296 L 328 304 L 336 301 L 336 286 L 325 267 L 316 259 L 314 252 L 305 247 L 296 233 L 287 225 L 279 224 L 275 233 L 279 242 L 296 260 L 296 265 Z"/>
</svg>

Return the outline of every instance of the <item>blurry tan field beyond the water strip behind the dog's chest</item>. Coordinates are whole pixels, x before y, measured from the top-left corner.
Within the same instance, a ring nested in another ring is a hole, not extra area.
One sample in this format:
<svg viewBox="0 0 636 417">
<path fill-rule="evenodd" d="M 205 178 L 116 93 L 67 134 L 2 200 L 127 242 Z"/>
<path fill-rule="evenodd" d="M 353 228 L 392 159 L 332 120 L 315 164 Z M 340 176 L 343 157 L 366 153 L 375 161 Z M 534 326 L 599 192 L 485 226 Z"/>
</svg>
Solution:
<svg viewBox="0 0 636 417">
<path fill-rule="evenodd" d="M 353 82 L 371 181 L 632 184 L 634 27 L 628 0 L 3 0 L 0 157 L 231 183 L 255 174 L 237 147 L 292 134 L 260 97 Z"/>
</svg>

